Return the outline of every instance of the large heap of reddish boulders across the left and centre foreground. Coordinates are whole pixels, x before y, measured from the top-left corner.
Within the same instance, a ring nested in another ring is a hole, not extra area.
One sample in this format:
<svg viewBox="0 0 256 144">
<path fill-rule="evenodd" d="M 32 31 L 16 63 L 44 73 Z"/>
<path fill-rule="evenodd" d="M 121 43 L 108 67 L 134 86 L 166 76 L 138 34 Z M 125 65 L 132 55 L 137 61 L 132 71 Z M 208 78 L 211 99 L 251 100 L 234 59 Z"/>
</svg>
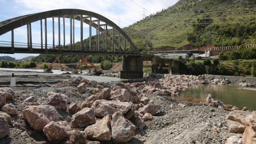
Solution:
<svg viewBox="0 0 256 144">
<path fill-rule="evenodd" d="M 33 95 L 16 99 L 28 105 L 23 109 L 24 119 L 36 132 L 46 135 L 51 143 L 60 143 L 65 139 L 72 143 L 111 140 L 114 143 L 125 143 L 133 138 L 136 129 L 143 129 L 144 121 L 152 120 L 161 109 L 160 105 L 152 105 L 134 86 L 142 86 L 142 83 L 115 83 L 107 86 L 76 78 L 56 85 L 67 86 L 67 83 L 77 87 L 79 93 L 91 96 L 81 106 L 71 103 L 66 95 L 55 92 L 47 93 L 47 99 L 41 103 L 37 103 Z M 160 88 L 160 83 L 154 83 L 154 87 Z M 18 111 L 14 105 L 6 104 L 7 97 L 14 98 L 14 91 L 11 88 L 2 88 L 0 91 L 0 138 L 3 138 L 10 133 L 9 115 L 17 115 Z M 56 121 L 61 111 L 72 114 L 72 120 Z"/>
</svg>

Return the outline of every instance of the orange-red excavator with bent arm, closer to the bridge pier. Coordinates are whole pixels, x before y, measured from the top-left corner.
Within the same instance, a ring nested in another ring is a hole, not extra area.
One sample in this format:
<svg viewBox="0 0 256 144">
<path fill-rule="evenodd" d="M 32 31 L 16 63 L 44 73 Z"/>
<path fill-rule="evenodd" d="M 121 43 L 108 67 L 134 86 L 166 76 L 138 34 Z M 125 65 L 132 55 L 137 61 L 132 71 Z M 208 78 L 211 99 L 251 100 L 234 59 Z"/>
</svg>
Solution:
<svg viewBox="0 0 256 144">
<path fill-rule="evenodd" d="M 93 63 L 89 62 L 87 59 L 82 58 L 82 57 L 81 57 L 79 63 L 76 65 L 76 69 L 74 71 L 72 71 L 72 72 L 73 73 L 78 73 L 78 68 L 79 68 L 79 65 L 80 65 L 80 69 L 81 69 L 80 73 L 82 73 L 82 64 L 83 63 L 89 69 L 89 73 L 91 73 L 91 69 L 90 69 L 90 67 L 88 66 L 87 63 L 89 63 L 94 68 L 93 75 L 101 75 L 102 74 L 102 69 L 97 69 L 96 66 Z"/>
</svg>

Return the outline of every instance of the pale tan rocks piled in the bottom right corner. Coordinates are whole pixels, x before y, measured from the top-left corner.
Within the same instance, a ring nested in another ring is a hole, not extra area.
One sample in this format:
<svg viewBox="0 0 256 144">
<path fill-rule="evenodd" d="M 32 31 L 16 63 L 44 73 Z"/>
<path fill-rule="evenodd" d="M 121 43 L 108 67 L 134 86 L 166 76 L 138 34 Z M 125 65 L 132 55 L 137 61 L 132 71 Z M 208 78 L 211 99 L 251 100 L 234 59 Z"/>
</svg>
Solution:
<svg viewBox="0 0 256 144">
<path fill-rule="evenodd" d="M 234 110 L 226 116 L 229 133 L 243 134 L 242 138 L 232 136 L 227 143 L 256 144 L 256 111 Z"/>
</svg>

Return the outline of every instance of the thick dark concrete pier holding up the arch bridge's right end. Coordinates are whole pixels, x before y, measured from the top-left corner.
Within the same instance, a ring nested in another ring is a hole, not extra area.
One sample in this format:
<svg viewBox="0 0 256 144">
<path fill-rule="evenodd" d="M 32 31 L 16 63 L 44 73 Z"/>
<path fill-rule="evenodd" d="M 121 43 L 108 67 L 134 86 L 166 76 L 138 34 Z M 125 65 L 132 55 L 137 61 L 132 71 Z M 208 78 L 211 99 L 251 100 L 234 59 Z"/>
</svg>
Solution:
<svg viewBox="0 0 256 144">
<path fill-rule="evenodd" d="M 143 56 L 122 56 L 121 79 L 138 79 L 143 77 Z"/>
</svg>

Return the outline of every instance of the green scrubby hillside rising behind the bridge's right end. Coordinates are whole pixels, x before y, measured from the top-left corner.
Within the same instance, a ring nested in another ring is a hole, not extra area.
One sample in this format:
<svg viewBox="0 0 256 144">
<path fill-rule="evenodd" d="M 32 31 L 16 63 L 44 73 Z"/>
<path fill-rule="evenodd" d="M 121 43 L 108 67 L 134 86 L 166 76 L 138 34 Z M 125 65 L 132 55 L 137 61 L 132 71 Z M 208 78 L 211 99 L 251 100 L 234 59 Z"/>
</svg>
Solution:
<svg viewBox="0 0 256 144">
<path fill-rule="evenodd" d="M 180 0 L 123 30 L 141 51 L 256 44 L 255 8 L 251 0 Z"/>
</svg>

